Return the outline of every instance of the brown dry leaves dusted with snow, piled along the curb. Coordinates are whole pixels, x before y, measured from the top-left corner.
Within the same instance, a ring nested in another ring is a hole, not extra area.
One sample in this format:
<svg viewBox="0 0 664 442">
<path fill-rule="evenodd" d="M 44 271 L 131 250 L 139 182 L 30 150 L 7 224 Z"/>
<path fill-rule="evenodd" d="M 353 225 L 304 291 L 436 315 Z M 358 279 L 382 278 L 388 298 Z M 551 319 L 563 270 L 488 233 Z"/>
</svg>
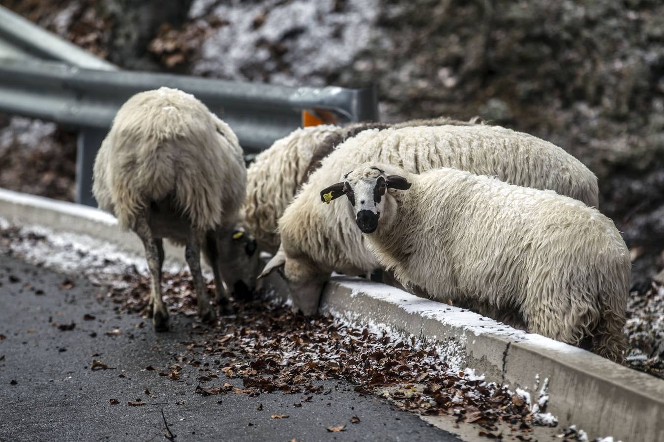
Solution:
<svg viewBox="0 0 664 442">
<path fill-rule="evenodd" d="M 191 277 L 165 274 L 164 280 L 169 310 L 195 315 Z M 118 311 L 146 313 L 148 293 L 149 280 L 130 269 L 108 297 Z M 523 440 L 533 425 L 555 423 L 546 421 L 543 407 L 532 408 L 529 397 L 485 382 L 470 370 L 452 370 L 435 349 L 422 347 L 414 338 L 378 335 L 330 316 L 307 319 L 265 300 L 236 307 L 236 315 L 201 329 L 200 339 L 188 343 L 187 354 L 159 374 L 179 380 L 183 366 L 194 367 L 192 376 L 199 381 L 195 392 L 203 396 L 282 392 L 304 394 L 305 400 L 324 393 L 319 381 L 343 379 L 355 384 L 359 394 L 379 394 L 410 412 L 477 423 L 489 437 L 499 421 L 509 423 Z M 219 376 L 242 379 L 243 387 Z"/>
</svg>

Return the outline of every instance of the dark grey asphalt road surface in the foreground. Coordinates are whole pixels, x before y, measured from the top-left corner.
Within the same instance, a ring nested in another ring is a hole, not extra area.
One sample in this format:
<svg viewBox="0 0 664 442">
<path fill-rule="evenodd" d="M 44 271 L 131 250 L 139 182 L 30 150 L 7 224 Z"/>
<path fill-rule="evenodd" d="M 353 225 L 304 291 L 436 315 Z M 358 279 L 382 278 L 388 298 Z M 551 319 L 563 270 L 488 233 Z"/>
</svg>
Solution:
<svg viewBox="0 0 664 442">
<path fill-rule="evenodd" d="M 67 279 L 70 288 L 62 286 Z M 282 393 L 203 397 L 194 392 L 193 372 L 187 377 L 183 369 L 177 381 L 158 374 L 199 333 L 183 315 L 171 316 L 173 331 L 155 334 L 149 320 L 115 313 L 104 290 L 88 280 L 4 255 L 0 284 L 0 441 L 161 441 L 161 410 L 179 442 L 460 440 L 383 400 L 359 396 L 347 382 L 323 382 L 324 393 L 310 402 Z M 84 320 L 86 314 L 94 319 Z M 72 330 L 54 325 L 72 322 Z M 109 369 L 91 370 L 92 360 Z M 141 371 L 147 366 L 157 370 Z M 111 405 L 111 398 L 119 403 Z M 136 400 L 145 405 L 128 406 Z M 361 421 L 351 423 L 353 416 Z M 340 425 L 344 431 L 326 429 Z"/>
</svg>

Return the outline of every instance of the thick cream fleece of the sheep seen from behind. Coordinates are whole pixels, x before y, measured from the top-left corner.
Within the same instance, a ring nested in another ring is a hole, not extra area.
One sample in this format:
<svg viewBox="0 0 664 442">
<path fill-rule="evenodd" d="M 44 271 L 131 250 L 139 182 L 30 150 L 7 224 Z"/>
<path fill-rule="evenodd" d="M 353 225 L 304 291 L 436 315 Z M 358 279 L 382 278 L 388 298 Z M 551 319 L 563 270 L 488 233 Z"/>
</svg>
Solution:
<svg viewBox="0 0 664 442">
<path fill-rule="evenodd" d="M 122 105 L 94 164 L 93 193 L 124 229 L 167 196 L 199 231 L 234 223 L 245 188 L 230 127 L 193 95 L 168 87 Z"/>
</svg>

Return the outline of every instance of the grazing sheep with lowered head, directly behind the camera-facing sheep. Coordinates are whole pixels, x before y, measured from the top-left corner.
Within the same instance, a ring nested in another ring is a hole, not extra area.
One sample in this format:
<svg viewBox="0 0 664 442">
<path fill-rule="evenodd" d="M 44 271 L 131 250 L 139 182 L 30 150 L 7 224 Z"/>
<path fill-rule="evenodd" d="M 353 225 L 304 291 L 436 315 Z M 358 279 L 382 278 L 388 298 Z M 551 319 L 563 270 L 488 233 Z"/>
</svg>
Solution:
<svg viewBox="0 0 664 442">
<path fill-rule="evenodd" d="M 397 164 L 412 173 L 456 167 L 520 186 L 555 190 L 588 205 L 598 200 L 597 178 L 588 168 L 532 135 L 484 125 L 364 131 L 323 160 L 279 220 L 282 247 L 261 276 L 284 267 L 295 311 L 315 313 L 331 272 L 364 275 L 378 268 L 345 210 L 313 204 L 321 188 L 367 161 Z"/>
</svg>

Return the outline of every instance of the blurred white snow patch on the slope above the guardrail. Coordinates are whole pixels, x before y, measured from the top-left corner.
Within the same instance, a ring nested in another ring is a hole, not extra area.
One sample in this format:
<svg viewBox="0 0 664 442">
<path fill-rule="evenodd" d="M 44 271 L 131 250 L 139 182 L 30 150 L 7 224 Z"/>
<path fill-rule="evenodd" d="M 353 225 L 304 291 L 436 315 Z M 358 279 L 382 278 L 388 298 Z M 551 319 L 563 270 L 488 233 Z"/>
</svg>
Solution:
<svg viewBox="0 0 664 442">
<path fill-rule="evenodd" d="M 377 0 L 348 2 L 342 11 L 335 11 L 334 0 L 234 0 L 216 7 L 196 0 L 191 19 L 217 19 L 224 25 L 203 43 L 193 72 L 229 80 L 299 85 L 307 79 L 324 85 L 328 72 L 348 66 L 368 46 L 379 11 Z M 262 78 L 265 72 L 271 78 Z"/>
</svg>

